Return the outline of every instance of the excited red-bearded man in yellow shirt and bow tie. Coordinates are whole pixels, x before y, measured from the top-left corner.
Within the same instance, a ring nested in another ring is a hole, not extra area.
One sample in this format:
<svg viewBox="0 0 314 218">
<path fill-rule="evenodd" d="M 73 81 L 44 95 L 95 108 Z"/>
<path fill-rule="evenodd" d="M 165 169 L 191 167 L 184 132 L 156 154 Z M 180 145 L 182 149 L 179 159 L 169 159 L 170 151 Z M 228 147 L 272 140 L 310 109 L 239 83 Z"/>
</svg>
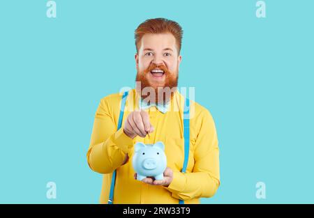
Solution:
<svg viewBox="0 0 314 218">
<path fill-rule="evenodd" d="M 177 91 L 182 29 L 163 18 L 143 22 L 135 30 L 137 68 L 135 89 L 126 98 L 123 123 L 118 122 L 121 93 L 100 101 L 87 152 L 90 168 L 103 173 L 100 203 L 107 203 L 113 184 L 113 203 L 200 203 L 220 185 L 218 139 L 207 109 L 190 101 L 190 140 L 184 164 L 184 107 Z M 154 94 L 152 94 L 154 93 Z M 163 180 L 136 180 L 132 166 L 134 144 L 163 141 L 167 168 Z M 111 201 L 109 201 L 111 202 Z"/>
</svg>

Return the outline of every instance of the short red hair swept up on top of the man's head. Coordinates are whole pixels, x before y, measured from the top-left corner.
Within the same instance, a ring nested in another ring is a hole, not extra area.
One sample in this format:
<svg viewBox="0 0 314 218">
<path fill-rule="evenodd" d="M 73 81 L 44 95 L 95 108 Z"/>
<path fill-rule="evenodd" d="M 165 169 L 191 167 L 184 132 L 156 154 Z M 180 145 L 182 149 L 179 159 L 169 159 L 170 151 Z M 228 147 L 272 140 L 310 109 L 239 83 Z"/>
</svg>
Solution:
<svg viewBox="0 0 314 218">
<path fill-rule="evenodd" d="M 140 40 L 147 33 L 172 33 L 177 42 L 178 54 L 180 54 L 183 30 L 177 22 L 165 18 L 149 19 L 142 22 L 135 29 L 136 52 L 138 52 Z"/>
</svg>

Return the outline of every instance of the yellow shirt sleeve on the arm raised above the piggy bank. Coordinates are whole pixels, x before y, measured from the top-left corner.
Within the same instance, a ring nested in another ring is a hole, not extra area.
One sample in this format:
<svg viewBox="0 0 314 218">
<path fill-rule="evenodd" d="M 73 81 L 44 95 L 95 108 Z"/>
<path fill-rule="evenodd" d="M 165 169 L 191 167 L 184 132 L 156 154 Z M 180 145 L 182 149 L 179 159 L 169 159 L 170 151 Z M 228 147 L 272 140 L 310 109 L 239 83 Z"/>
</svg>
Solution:
<svg viewBox="0 0 314 218">
<path fill-rule="evenodd" d="M 100 100 L 87 151 L 89 167 L 98 173 L 112 173 L 124 164 L 132 146 L 133 139 L 124 133 L 123 128 L 117 130 L 112 106 L 107 98 Z"/>
</svg>

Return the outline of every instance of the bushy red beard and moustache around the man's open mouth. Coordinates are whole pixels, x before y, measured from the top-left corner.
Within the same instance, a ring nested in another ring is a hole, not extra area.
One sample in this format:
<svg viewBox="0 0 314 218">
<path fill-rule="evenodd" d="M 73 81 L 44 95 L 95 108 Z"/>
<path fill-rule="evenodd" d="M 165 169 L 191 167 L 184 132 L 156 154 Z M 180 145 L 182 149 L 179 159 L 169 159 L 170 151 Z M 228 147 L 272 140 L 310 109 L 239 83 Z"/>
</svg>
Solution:
<svg viewBox="0 0 314 218">
<path fill-rule="evenodd" d="M 147 77 L 154 69 L 163 70 L 165 75 L 164 81 L 151 82 Z M 178 70 L 170 72 L 165 65 L 156 65 L 151 63 L 149 67 L 142 72 L 137 70 L 136 91 L 140 93 L 142 100 L 156 104 L 166 104 L 169 102 L 178 86 Z"/>
</svg>

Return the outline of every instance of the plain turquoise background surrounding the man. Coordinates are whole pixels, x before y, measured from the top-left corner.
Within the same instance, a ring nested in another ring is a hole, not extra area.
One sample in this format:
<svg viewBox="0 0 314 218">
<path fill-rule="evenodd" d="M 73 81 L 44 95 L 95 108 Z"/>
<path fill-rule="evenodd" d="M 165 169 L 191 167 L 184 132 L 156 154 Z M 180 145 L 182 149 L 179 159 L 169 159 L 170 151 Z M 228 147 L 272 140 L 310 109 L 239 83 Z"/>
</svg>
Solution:
<svg viewBox="0 0 314 218">
<path fill-rule="evenodd" d="M 134 30 L 181 24 L 180 86 L 214 116 L 221 185 L 202 203 L 314 203 L 314 1 L 0 1 L 0 203 L 98 203 L 100 99 L 134 86 Z M 46 198 L 56 182 L 57 199 Z M 266 199 L 255 197 L 265 182 Z"/>
</svg>

